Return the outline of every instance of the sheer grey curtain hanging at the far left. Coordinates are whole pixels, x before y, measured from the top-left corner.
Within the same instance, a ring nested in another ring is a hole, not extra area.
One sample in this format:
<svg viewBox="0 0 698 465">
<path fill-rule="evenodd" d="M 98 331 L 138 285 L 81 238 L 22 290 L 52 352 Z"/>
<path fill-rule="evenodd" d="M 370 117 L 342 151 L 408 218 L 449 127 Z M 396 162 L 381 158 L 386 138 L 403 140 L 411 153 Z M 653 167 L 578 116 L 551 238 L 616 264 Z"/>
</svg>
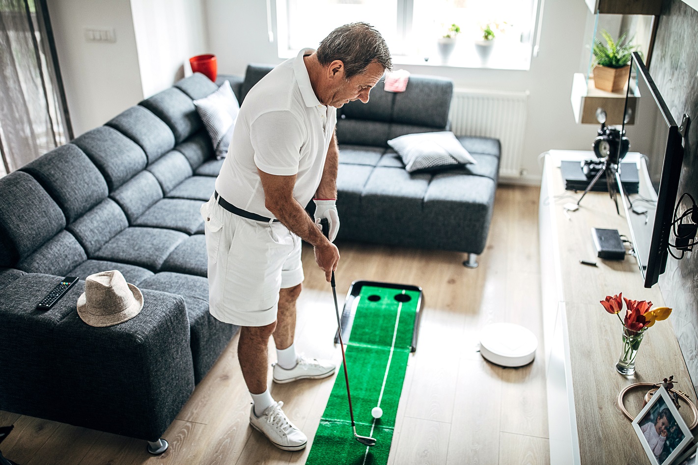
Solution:
<svg viewBox="0 0 698 465">
<path fill-rule="evenodd" d="M 72 138 L 45 0 L 0 0 L 4 170 L 16 170 Z"/>
</svg>

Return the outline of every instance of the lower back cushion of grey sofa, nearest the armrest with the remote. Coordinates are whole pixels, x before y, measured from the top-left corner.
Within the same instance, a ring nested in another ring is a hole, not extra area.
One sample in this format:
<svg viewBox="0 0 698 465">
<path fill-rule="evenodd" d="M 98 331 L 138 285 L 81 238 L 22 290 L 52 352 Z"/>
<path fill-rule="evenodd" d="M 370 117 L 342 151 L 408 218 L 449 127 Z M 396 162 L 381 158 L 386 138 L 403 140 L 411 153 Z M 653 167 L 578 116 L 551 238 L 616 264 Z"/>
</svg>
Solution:
<svg viewBox="0 0 698 465">
<path fill-rule="evenodd" d="M 15 267 L 27 273 L 67 276 L 70 270 L 84 260 L 87 260 L 87 255 L 80 242 L 77 242 L 70 232 L 64 230 L 49 239 L 30 256 L 20 260 Z"/>
</svg>

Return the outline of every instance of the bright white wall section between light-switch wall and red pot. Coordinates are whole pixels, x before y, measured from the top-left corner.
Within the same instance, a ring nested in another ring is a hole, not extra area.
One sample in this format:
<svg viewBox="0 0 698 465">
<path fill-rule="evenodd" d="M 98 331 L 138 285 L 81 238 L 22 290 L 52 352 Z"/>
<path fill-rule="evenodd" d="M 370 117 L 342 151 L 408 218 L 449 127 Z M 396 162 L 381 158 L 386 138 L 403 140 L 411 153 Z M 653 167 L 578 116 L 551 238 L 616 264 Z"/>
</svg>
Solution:
<svg viewBox="0 0 698 465">
<path fill-rule="evenodd" d="M 191 74 L 189 58 L 207 53 L 201 0 L 131 0 L 145 98 Z"/>
</svg>

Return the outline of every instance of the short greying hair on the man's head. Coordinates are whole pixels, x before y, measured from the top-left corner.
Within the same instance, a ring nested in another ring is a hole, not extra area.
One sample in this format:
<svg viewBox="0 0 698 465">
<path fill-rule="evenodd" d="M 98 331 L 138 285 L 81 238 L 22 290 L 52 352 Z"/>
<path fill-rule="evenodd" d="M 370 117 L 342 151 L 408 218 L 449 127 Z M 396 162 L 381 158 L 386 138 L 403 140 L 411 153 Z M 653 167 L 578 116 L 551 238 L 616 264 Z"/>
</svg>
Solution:
<svg viewBox="0 0 698 465">
<path fill-rule="evenodd" d="M 341 60 L 346 79 L 363 73 L 373 61 L 388 71 L 392 70 L 392 58 L 385 39 L 365 22 L 352 22 L 334 29 L 322 39 L 317 53 L 322 66 Z"/>
</svg>

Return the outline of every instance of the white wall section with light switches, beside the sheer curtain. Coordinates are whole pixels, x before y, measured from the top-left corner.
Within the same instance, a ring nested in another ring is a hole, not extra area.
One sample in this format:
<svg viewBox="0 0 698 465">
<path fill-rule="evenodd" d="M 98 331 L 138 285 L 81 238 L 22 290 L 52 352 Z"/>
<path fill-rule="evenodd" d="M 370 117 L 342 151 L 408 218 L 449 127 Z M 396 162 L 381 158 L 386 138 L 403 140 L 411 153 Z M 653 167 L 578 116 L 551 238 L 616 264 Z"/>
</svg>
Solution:
<svg viewBox="0 0 698 465">
<path fill-rule="evenodd" d="M 75 136 L 143 98 L 129 0 L 51 0 L 48 8 Z M 84 29 L 114 29 L 88 43 Z"/>
</svg>

